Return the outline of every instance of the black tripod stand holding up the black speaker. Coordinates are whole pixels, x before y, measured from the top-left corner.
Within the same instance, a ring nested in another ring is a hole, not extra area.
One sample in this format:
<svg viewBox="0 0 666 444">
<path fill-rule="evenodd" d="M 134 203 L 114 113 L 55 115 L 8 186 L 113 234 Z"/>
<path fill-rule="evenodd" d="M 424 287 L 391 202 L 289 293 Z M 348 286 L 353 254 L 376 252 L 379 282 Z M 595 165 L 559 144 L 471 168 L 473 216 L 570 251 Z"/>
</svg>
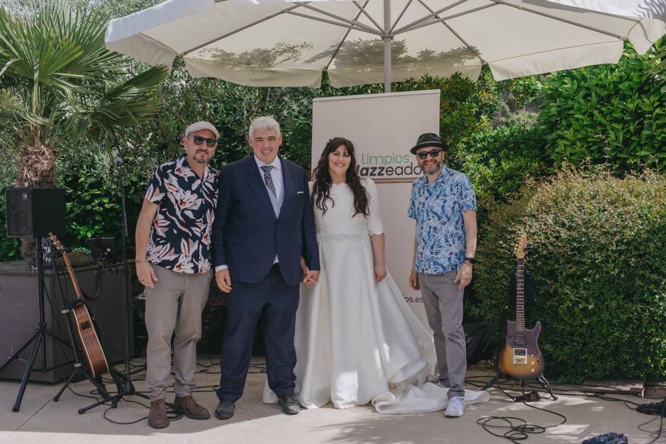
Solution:
<svg viewBox="0 0 666 444">
<path fill-rule="evenodd" d="M 26 350 L 31 344 L 33 345 L 33 350 L 30 353 L 28 358 L 28 363 L 26 364 L 26 369 L 24 370 L 23 377 L 21 379 L 21 385 L 19 386 L 19 393 L 16 396 L 16 401 L 14 402 L 14 407 L 12 411 L 19 411 L 21 409 L 21 402 L 23 400 L 23 395 L 26 391 L 26 386 L 28 384 L 28 379 L 30 374 L 33 372 L 33 366 L 35 365 L 35 358 L 37 353 L 40 352 L 42 358 L 42 365 L 40 368 L 35 369 L 35 371 L 46 372 L 51 370 L 51 368 L 46 368 L 46 336 L 51 337 L 61 344 L 65 344 L 71 347 L 71 344 L 63 341 L 59 336 L 51 332 L 49 328 L 46 327 L 46 320 L 44 318 L 44 252 L 42 251 L 42 238 L 35 237 L 37 246 L 35 246 L 35 259 L 37 259 L 37 289 L 39 293 L 39 308 L 40 308 L 40 323 L 35 330 L 35 334 L 26 341 L 2 366 L 0 366 L 0 373 L 7 368 L 12 361 L 19 359 L 19 355 Z M 55 368 L 55 367 L 53 367 Z"/>
</svg>

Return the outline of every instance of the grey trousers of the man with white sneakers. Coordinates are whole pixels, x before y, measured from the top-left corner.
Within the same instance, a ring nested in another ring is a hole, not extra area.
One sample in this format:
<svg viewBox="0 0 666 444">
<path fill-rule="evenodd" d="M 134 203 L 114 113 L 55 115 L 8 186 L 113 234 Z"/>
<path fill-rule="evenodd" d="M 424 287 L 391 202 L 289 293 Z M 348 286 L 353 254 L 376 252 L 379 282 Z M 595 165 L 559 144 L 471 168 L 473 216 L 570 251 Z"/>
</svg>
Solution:
<svg viewBox="0 0 666 444">
<path fill-rule="evenodd" d="M 434 331 L 439 378 L 450 386 L 449 398 L 465 395 L 467 352 L 463 332 L 463 291 L 453 282 L 456 271 L 418 273 L 425 314 Z"/>
</svg>

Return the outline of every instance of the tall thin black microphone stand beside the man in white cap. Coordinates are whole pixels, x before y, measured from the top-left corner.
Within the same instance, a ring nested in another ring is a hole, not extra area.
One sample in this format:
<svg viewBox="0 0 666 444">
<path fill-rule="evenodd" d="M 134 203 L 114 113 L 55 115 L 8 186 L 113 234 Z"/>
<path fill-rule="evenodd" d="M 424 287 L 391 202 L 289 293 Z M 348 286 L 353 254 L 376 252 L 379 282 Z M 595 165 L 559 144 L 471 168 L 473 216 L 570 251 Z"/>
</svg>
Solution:
<svg viewBox="0 0 666 444">
<path fill-rule="evenodd" d="M 120 225 L 122 228 L 122 237 L 121 237 L 121 250 L 123 253 L 123 331 L 125 336 L 125 373 L 121 373 L 115 368 L 110 368 L 111 376 L 118 387 L 118 393 L 113 395 L 110 399 L 103 399 L 95 404 L 92 404 L 85 409 L 80 409 L 78 413 L 85 413 L 85 411 L 97 407 L 105 402 L 111 402 L 112 406 L 115 407 L 118 400 L 123 399 L 125 396 L 139 396 L 149 400 L 150 397 L 144 393 L 136 391 L 134 384 L 132 384 L 132 375 L 130 373 L 130 328 L 128 320 L 128 296 L 130 291 L 129 287 L 129 266 L 127 264 L 127 242 L 126 238 L 128 237 L 128 228 L 127 228 L 127 212 L 125 209 L 125 185 L 123 184 L 123 160 L 120 157 L 116 157 L 114 160 L 116 170 L 118 173 L 118 189 L 120 191 L 120 205 L 121 205 L 121 220 Z"/>
</svg>

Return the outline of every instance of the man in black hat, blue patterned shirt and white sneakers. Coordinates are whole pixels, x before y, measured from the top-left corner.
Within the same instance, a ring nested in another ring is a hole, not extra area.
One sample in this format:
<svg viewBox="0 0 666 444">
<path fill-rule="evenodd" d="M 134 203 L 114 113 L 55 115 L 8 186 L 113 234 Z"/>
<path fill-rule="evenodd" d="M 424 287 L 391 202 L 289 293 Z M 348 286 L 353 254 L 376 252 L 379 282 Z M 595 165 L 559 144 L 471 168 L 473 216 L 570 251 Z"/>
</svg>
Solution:
<svg viewBox="0 0 666 444">
<path fill-rule="evenodd" d="M 440 384 L 449 388 L 444 413 L 456 417 L 465 413 L 463 292 L 477 248 L 477 201 L 469 178 L 444 166 L 446 151 L 434 133 L 420 135 L 411 148 L 424 175 L 411 187 L 416 236 L 409 286 L 421 291 L 434 331 Z"/>
</svg>

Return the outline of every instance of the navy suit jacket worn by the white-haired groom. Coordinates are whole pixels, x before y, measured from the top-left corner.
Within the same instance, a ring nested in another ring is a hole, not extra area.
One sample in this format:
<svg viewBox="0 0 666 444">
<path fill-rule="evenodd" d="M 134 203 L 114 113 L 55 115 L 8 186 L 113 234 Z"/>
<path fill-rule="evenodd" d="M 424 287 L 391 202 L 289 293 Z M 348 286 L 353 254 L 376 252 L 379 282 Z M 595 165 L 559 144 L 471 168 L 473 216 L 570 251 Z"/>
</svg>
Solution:
<svg viewBox="0 0 666 444">
<path fill-rule="evenodd" d="M 300 256 L 311 270 L 319 270 L 319 248 L 314 228 L 305 170 L 284 160 L 284 199 L 275 216 L 268 190 L 253 155 L 222 168 L 213 223 L 215 266 L 227 265 L 234 280 L 255 284 L 268 275 L 278 255 L 284 282 L 298 285 Z"/>
</svg>

